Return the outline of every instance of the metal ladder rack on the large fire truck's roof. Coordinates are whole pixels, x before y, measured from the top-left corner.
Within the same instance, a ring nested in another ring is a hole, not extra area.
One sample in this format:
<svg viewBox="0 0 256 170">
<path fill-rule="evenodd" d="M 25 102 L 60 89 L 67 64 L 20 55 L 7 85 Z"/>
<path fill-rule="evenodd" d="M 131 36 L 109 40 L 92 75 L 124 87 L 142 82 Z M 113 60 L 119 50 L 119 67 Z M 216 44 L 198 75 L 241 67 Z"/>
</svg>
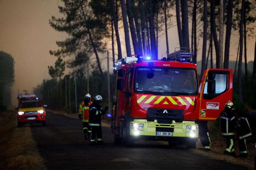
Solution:
<svg viewBox="0 0 256 170">
<path fill-rule="evenodd" d="M 176 50 L 176 48 L 180 48 L 180 50 Z M 175 47 L 175 51 L 169 54 L 169 58 L 171 60 L 176 61 L 186 61 L 190 62 L 192 60 L 194 53 L 192 52 L 192 48 L 183 48 L 183 47 Z"/>
</svg>

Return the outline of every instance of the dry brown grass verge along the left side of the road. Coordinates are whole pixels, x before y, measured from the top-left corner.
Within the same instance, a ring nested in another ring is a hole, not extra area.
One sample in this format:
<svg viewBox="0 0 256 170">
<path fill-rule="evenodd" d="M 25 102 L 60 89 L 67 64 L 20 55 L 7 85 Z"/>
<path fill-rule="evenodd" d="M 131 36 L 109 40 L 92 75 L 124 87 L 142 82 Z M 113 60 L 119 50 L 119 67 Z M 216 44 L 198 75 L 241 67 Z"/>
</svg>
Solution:
<svg viewBox="0 0 256 170">
<path fill-rule="evenodd" d="M 46 169 L 29 126 L 17 128 L 13 111 L 0 113 L 0 169 Z"/>
</svg>

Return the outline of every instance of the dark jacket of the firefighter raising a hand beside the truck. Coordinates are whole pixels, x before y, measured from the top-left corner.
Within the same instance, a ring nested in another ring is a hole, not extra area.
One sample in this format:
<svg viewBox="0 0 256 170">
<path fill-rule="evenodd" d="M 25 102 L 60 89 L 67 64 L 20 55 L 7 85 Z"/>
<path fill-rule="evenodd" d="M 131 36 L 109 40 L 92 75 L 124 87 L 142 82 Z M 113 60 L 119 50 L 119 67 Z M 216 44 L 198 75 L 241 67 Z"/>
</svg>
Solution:
<svg viewBox="0 0 256 170">
<path fill-rule="evenodd" d="M 102 107 L 93 102 L 89 107 L 89 126 L 101 126 L 101 115 L 104 115 L 106 110 L 102 110 Z"/>
</svg>

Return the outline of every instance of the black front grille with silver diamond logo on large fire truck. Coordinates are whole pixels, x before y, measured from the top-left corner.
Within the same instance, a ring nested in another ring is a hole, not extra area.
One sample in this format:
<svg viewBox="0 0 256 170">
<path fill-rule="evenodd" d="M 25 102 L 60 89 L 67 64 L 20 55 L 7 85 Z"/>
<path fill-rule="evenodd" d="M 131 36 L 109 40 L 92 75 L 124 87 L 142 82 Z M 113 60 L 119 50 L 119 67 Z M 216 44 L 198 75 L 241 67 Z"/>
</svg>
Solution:
<svg viewBox="0 0 256 170">
<path fill-rule="evenodd" d="M 183 110 L 177 109 L 148 109 L 147 119 L 183 120 Z"/>
</svg>

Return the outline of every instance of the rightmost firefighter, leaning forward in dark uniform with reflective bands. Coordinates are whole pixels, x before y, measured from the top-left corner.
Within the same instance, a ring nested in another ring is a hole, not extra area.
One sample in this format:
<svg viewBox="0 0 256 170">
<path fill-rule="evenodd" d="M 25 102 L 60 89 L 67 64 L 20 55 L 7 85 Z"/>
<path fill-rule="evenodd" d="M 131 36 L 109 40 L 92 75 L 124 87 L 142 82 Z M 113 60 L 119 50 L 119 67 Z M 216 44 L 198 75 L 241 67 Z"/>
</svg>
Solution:
<svg viewBox="0 0 256 170">
<path fill-rule="evenodd" d="M 247 158 L 247 146 L 246 146 L 246 138 L 252 136 L 252 131 L 249 125 L 249 122 L 245 116 L 238 110 L 234 110 L 235 116 L 231 119 L 236 119 L 236 131 L 237 131 L 237 139 L 238 146 L 240 150 L 239 157 Z"/>
</svg>

